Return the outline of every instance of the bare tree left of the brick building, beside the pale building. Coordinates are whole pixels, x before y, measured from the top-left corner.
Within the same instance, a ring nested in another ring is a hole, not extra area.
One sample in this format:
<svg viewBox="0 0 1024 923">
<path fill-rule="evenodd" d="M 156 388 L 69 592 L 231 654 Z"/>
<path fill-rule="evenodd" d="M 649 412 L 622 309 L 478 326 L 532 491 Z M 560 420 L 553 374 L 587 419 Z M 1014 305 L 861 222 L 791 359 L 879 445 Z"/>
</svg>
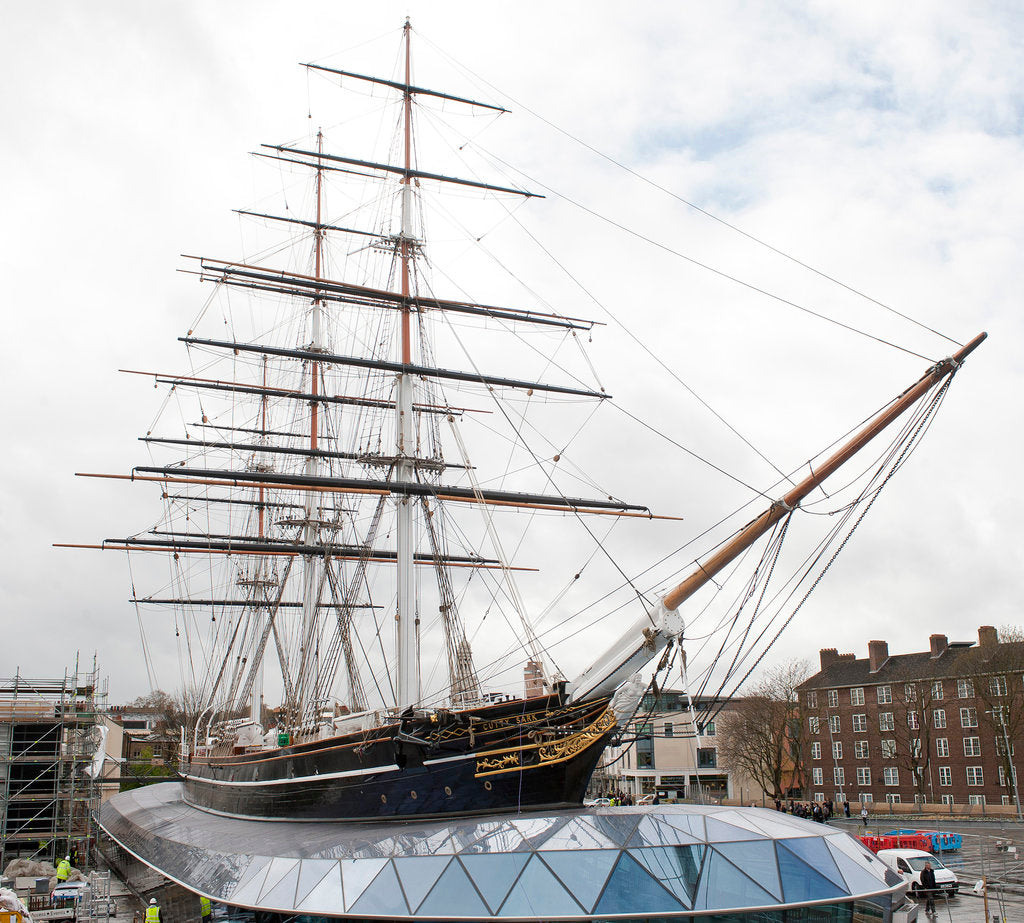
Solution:
<svg viewBox="0 0 1024 923">
<path fill-rule="evenodd" d="M 763 674 L 720 719 L 723 764 L 745 772 L 773 798 L 784 798 L 803 778 L 807 729 L 797 686 L 810 675 L 806 661 L 782 664 Z"/>
</svg>

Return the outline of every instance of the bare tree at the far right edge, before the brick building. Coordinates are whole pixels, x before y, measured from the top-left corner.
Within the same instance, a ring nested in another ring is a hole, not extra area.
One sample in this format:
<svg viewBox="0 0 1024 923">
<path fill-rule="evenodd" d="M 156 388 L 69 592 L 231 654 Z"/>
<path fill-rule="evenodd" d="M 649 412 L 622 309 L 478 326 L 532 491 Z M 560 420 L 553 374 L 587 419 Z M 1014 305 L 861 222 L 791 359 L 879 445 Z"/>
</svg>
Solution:
<svg viewBox="0 0 1024 923">
<path fill-rule="evenodd" d="M 1014 752 L 1024 744 L 1024 629 L 983 628 L 979 641 L 956 662 L 957 683 L 973 686 L 965 691 L 977 704 L 979 730 L 988 731 L 1002 767 L 1002 784 L 1013 798 Z"/>
</svg>

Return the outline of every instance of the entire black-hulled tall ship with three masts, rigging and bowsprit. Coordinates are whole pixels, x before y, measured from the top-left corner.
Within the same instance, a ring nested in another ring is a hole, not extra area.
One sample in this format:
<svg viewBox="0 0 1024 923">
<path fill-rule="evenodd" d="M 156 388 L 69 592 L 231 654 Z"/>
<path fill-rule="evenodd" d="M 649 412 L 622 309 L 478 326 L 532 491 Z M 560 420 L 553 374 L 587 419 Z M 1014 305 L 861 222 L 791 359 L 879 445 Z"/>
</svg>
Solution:
<svg viewBox="0 0 1024 923">
<path fill-rule="evenodd" d="M 383 100 L 387 155 L 334 150 L 322 132 L 263 145 L 307 192 L 240 211 L 268 241 L 250 256 L 187 257 L 211 286 L 181 337 L 188 371 L 145 373 L 180 416 L 160 418 L 142 437 L 151 462 L 122 476 L 155 486 L 162 514 L 102 547 L 167 564 L 162 589 L 133 602 L 173 620 L 189 704 L 184 797 L 210 811 L 370 820 L 580 804 L 650 688 L 648 665 L 682 657 L 683 604 L 774 542 L 877 435 L 934 407 L 984 337 L 927 369 L 668 591 L 638 593 L 607 649 L 562 675 L 520 587 L 537 564 L 522 523 L 570 519 L 600 547 L 605 523 L 677 510 L 566 473 L 577 423 L 546 438 L 560 411 L 579 419 L 610 398 L 564 358 L 595 322 L 468 297 L 433 265 L 425 190 L 431 205 L 454 192 L 506 215 L 534 194 L 421 165 L 422 107 L 504 109 L 417 85 L 411 38 L 407 23 L 391 79 L 306 66 Z M 521 371 L 537 368 L 546 375 Z"/>
</svg>

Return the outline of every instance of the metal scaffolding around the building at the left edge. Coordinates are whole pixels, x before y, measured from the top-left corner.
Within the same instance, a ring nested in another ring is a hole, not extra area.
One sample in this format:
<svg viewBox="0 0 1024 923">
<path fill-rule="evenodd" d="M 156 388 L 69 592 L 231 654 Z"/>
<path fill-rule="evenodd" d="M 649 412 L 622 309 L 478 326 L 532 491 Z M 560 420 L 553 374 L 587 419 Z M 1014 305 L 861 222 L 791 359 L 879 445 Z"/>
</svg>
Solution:
<svg viewBox="0 0 1024 923">
<path fill-rule="evenodd" d="M 105 680 L 66 670 L 60 678 L 17 672 L 0 679 L 0 869 L 15 858 L 88 868 L 99 805 L 92 771 L 106 708 Z"/>
</svg>

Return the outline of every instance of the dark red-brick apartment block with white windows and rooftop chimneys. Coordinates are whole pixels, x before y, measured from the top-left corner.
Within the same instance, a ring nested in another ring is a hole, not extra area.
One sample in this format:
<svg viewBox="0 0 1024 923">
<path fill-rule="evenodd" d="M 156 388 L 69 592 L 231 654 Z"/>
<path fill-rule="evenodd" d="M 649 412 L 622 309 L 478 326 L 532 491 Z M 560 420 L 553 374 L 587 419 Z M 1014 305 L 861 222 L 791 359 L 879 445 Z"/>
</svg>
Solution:
<svg viewBox="0 0 1024 923">
<path fill-rule="evenodd" d="M 933 634 L 929 649 L 820 652 L 799 687 L 809 797 L 851 802 L 1015 804 L 1015 743 L 1024 744 L 1024 641 Z M 1018 740 L 1020 739 L 1020 740 Z"/>
</svg>

